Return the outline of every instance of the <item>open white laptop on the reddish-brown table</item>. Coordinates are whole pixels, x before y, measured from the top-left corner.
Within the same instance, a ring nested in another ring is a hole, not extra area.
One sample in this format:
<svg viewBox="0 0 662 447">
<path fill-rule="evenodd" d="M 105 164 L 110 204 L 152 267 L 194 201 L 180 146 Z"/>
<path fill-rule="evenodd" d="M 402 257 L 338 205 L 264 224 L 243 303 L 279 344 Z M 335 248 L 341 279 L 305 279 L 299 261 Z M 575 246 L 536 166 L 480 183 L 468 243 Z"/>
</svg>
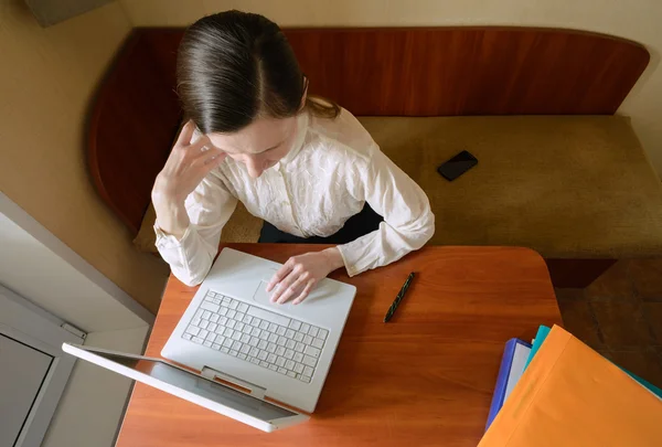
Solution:
<svg viewBox="0 0 662 447">
<path fill-rule="evenodd" d="M 324 278 L 297 306 L 291 302 L 271 304 L 266 287 L 280 267 L 281 264 L 224 248 L 168 339 L 161 355 L 200 371 L 201 374 L 194 376 L 195 380 L 220 379 L 236 385 L 237 390 L 245 390 L 237 392 L 258 402 L 266 403 L 265 400 L 269 398 L 271 402 L 312 413 L 356 288 Z M 118 355 L 106 353 L 110 354 Z M 154 361 L 135 355 L 125 356 Z M 167 362 L 158 364 L 158 369 L 163 371 L 171 371 L 170 368 L 179 372 L 185 371 Z M 103 365 L 108 368 L 106 361 Z M 122 371 L 129 372 L 126 368 Z M 135 371 L 131 370 L 134 375 Z M 130 376 L 136 379 L 134 375 Z M 146 379 L 142 375 L 141 379 Z M 153 376 L 150 377 L 153 382 Z M 160 381 L 160 384 L 166 383 L 162 377 Z M 172 386 L 164 391 L 172 392 Z M 229 390 L 235 392 L 234 389 Z M 224 403 L 220 405 L 228 407 Z M 211 409 L 220 408 L 215 406 Z M 242 417 L 236 417 L 235 412 Z M 257 424 L 253 413 L 237 408 L 229 413 L 225 409 L 218 413 L 245 423 L 253 417 L 249 425 L 260 429 L 275 429 L 284 424 L 290 425 L 291 421 L 300 422 L 289 419 L 300 416 L 296 412 L 290 412 L 292 414 L 284 416 L 287 421 L 277 424 L 265 423 L 264 419 L 261 424 Z"/>
</svg>

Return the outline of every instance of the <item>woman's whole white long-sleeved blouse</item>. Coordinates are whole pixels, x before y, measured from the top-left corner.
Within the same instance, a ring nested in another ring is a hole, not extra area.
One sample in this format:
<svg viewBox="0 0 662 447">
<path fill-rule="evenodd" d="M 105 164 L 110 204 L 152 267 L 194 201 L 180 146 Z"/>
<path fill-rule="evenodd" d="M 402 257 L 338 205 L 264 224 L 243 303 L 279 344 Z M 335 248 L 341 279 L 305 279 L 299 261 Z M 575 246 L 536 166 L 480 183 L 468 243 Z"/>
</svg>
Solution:
<svg viewBox="0 0 662 447">
<path fill-rule="evenodd" d="M 186 199 L 191 224 L 181 241 L 157 224 L 157 248 L 182 283 L 202 283 L 237 200 L 253 215 L 300 237 L 334 234 L 367 202 L 384 222 L 338 246 L 350 276 L 399 259 L 435 232 L 425 192 L 344 109 L 333 120 L 301 114 L 290 152 L 257 179 L 225 158 Z"/>
</svg>

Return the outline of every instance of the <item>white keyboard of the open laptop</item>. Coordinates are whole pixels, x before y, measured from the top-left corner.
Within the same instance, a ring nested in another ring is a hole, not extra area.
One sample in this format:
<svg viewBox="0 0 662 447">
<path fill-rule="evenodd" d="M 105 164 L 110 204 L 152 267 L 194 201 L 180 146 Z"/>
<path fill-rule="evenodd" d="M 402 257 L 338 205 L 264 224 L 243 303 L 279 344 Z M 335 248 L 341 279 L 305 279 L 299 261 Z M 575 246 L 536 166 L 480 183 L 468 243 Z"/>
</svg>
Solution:
<svg viewBox="0 0 662 447">
<path fill-rule="evenodd" d="M 329 331 L 207 291 L 182 338 L 310 383 Z"/>
</svg>

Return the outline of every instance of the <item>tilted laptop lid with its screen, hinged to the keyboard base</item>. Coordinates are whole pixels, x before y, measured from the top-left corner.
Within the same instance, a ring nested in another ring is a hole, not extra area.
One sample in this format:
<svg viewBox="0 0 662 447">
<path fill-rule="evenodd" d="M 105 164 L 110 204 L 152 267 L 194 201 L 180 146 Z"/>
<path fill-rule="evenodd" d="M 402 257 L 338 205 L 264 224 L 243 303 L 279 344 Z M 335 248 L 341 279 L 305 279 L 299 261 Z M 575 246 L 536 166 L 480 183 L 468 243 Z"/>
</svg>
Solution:
<svg viewBox="0 0 662 447">
<path fill-rule="evenodd" d="M 160 359 L 68 343 L 63 343 L 62 349 L 79 359 L 264 432 L 274 432 L 308 419 L 308 416 L 242 393 Z"/>
</svg>

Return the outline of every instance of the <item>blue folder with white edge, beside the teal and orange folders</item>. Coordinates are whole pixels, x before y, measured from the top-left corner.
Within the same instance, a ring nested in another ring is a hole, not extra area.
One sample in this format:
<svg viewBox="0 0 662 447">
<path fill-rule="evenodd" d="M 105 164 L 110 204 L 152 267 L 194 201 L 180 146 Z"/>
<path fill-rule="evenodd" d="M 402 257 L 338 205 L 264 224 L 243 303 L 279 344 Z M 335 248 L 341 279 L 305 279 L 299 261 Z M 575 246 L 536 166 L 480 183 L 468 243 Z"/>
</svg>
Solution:
<svg viewBox="0 0 662 447">
<path fill-rule="evenodd" d="M 496 417 L 496 414 L 503 406 L 503 403 L 510 394 L 510 391 L 512 391 L 515 383 L 520 380 L 520 376 L 524 372 L 524 360 L 527 358 L 524 356 L 522 359 L 522 355 L 528 354 L 530 350 L 531 344 L 520 339 L 510 339 L 508 343 L 505 343 L 503 356 L 501 358 L 501 366 L 499 368 L 499 375 L 496 377 L 496 386 L 494 387 L 494 394 L 492 395 L 492 404 L 490 405 L 490 414 L 488 416 L 485 430 L 490 427 L 490 424 L 492 424 L 494 417 Z M 515 361 L 514 365 L 513 361 Z M 513 370 L 513 366 L 516 370 Z"/>
</svg>

